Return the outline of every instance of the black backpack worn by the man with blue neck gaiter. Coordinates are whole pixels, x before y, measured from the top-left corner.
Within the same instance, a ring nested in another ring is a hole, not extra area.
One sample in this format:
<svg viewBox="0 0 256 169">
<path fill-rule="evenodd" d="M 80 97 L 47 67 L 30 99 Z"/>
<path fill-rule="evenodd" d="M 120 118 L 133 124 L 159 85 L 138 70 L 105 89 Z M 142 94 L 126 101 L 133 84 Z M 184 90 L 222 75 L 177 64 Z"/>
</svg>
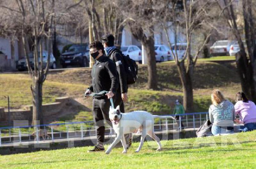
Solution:
<svg viewBox="0 0 256 169">
<path fill-rule="evenodd" d="M 110 58 L 112 60 L 113 60 L 113 54 L 114 54 L 115 51 L 119 52 L 123 56 L 124 69 L 126 71 L 127 85 L 134 84 L 137 80 L 137 75 L 138 75 L 138 65 L 137 65 L 137 63 L 133 59 L 131 59 L 129 55 L 124 55 L 119 49 L 114 49 L 111 52 Z"/>
</svg>

